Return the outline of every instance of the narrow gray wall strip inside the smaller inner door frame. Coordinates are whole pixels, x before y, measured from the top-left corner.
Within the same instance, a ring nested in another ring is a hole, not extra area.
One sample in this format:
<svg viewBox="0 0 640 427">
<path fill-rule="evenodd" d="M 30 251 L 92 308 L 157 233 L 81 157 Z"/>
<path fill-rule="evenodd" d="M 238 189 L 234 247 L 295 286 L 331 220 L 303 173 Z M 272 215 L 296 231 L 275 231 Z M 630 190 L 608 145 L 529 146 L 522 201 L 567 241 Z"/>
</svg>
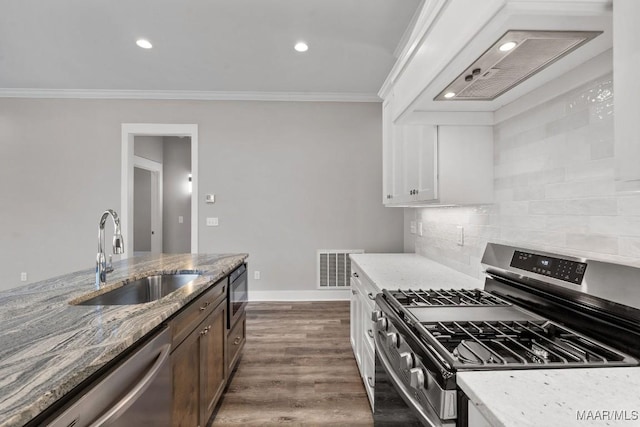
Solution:
<svg viewBox="0 0 640 427">
<path fill-rule="evenodd" d="M 133 250 L 151 251 L 151 172 L 133 168 Z"/>
</svg>

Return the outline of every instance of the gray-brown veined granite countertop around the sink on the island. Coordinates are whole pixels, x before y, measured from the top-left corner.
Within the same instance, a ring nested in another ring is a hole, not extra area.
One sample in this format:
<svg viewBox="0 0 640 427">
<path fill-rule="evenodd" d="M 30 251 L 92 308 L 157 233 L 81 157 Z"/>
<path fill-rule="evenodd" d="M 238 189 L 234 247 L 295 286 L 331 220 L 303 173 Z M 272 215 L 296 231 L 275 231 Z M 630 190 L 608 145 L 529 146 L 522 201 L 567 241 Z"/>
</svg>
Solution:
<svg viewBox="0 0 640 427">
<path fill-rule="evenodd" d="M 23 426 L 240 265 L 247 254 L 149 255 L 114 263 L 97 291 L 83 270 L 0 292 L 0 425 Z M 197 271 L 192 286 L 150 303 L 80 306 L 150 274 Z"/>
</svg>

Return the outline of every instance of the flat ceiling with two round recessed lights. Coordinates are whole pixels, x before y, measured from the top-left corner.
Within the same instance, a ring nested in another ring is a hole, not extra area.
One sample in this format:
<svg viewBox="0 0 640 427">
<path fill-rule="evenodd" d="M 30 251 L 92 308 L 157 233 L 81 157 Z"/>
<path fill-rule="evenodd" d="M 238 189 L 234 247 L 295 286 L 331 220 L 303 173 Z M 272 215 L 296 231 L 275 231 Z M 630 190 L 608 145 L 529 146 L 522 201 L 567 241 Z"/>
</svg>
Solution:
<svg viewBox="0 0 640 427">
<path fill-rule="evenodd" d="M 0 91 L 375 96 L 420 3 L 2 0 Z M 298 40 L 308 52 L 293 49 Z"/>
</svg>

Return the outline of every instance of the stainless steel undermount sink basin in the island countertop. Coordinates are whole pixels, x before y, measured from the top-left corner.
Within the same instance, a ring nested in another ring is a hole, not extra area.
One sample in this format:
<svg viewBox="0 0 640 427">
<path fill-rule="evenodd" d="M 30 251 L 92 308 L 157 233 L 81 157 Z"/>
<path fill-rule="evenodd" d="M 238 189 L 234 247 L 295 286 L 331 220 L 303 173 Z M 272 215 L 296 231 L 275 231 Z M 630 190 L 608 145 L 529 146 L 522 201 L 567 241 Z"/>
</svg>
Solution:
<svg viewBox="0 0 640 427">
<path fill-rule="evenodd" d="M 199 274 L 158 274 L 125 283 L 121 287 L 75 305 L 133 305 L 158 300 L 189 286 Z"/>
</svg>

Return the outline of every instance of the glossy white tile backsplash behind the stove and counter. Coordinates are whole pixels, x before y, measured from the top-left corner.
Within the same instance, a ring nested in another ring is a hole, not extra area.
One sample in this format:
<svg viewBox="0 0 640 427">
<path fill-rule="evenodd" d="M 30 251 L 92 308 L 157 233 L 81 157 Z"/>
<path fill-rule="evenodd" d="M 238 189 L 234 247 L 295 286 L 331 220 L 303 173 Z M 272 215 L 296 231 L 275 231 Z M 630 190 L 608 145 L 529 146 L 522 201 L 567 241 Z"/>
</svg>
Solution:
<svg viewBox="0 0 640 427">
<path fill-rule="evenodd" d="M 615 182 L 611 75 L 500 123 L 494 137 L 495 203 L 411 209 L 425 224 L 418 254 L 475 277 L 489 241 L 640 266 L 640 195 Z"/>
</svg>

